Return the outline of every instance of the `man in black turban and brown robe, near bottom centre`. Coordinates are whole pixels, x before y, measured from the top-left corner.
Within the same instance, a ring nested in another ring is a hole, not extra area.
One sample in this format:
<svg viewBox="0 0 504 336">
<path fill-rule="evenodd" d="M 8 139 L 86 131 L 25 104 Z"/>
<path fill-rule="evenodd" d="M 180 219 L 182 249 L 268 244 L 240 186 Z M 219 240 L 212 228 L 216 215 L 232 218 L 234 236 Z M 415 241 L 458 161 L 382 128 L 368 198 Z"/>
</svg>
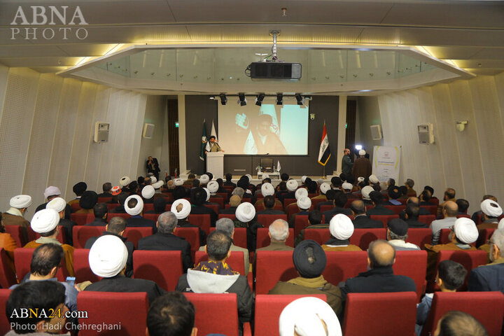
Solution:
<svg viewBox="0 0 504 336">
<path fill-rule="evenodd" d="M 289 281 L 279 281 L 268 294 L 327 295 L 328 304 L 336 314 L 342 312 L 341 290 L 325 281 L 322 273 L 327 264 L 325 251 L 313 240 L 304 240 L 293 253 L 294 267 L 300 275 Z"/>
</svg>

